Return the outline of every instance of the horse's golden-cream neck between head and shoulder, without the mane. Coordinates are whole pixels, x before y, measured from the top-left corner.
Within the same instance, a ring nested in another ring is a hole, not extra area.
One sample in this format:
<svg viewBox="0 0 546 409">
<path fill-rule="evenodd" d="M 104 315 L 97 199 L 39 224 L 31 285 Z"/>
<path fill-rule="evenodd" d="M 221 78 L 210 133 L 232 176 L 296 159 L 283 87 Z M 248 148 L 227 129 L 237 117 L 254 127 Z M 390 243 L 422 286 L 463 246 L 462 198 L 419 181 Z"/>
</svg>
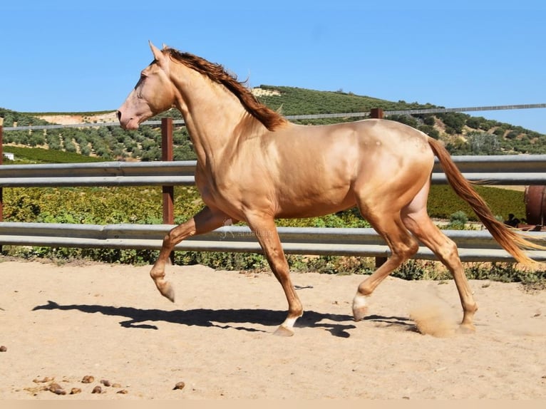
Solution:
<svg viewBox="0 0 546 409">
<path fill-rule="evenodd" d="M 186 69 L 192 76 L 191 88 L 185 85 L 189 82 L 177 83 L 182 96 L 177 108 L 184 117 L 197 159 L 205 164 L 215 161 L 216 157 L 229 155 L 241 134 L 237 130 L 249 115 L 227 88 Z"/>
</svg>

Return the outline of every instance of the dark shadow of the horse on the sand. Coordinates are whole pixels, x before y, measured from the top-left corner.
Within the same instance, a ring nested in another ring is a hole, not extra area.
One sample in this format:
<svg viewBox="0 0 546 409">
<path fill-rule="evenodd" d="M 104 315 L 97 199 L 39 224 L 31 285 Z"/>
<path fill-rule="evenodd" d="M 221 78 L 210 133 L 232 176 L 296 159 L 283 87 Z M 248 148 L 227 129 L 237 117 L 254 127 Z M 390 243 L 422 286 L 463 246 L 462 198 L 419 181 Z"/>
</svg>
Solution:
<svg viewBox="0 0 546 409">
<path fill-rule="evenodd" d="M 81 311 L 86 314 L 100 313 L 105 316 L 125 317 L 120 321 L 123 328 L 143 328 L 158 330 L 154 322 L 177 323 L 185 326 L 215 328 L 235 328 L 240 331 L 269 332 L 252 325 L 278 326 L 286 318 L 287 311 L 267 309 L 189 309 L 165 311 L 160 309 L 138 309 L 135 307 L 115 307 L 105 305 L 71 304 L 61 305 L 54 301 L 35 306 L 32 311 Z M 409 319 L 403 317 L 368 316 L 364 321 L 375 321 L 395 326 L 412 326 Z M 151 323 L 150 323 L 151 322 Z M 349 330 L 356 328 L 353 316 L 348 314 L 324 314 L 317 311 L 305 311 L 298 319 L 297 328 L 323 328 L 331 335 L 349 338 Z"/>
</svg>

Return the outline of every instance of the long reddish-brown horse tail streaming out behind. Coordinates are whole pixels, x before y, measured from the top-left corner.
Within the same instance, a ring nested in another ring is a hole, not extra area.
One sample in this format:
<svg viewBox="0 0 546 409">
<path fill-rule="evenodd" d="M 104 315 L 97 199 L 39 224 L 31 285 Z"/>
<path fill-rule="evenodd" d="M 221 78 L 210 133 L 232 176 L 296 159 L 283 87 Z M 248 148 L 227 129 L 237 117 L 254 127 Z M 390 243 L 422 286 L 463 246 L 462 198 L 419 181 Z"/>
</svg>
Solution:
<svg viewBox="0 0 546 409">
<path fill-rule="evenodd" d="M 541 249 L 546 247 L 540 244 L 535 244 L 525 238 L 523 234 L 517 232 L 516 229 L 507 227 L 503 222 L 495 218 L 495 215 L 489 209 L 485 201 L 478 195 L 468 180 L 460 173 L 460 170 L 455 165 L 449 152 L 443 145 L 433 138 L 428 138 L 428 145 L 431 146 L 434 154 L 440 160 L 445 176 L 448 178 L 450 186 L 455 190 L 455 193 L 461 197 L 468 205 L 472 207 L 475 214 L 480 218 L 485 227 L 488 229 L 493 238 L 500 244 L 508 253 L 512 254 L 517 262 L 526 266 L 537 266 L 540 263 L 525 254 L 523 249 Z"/>
</svg>

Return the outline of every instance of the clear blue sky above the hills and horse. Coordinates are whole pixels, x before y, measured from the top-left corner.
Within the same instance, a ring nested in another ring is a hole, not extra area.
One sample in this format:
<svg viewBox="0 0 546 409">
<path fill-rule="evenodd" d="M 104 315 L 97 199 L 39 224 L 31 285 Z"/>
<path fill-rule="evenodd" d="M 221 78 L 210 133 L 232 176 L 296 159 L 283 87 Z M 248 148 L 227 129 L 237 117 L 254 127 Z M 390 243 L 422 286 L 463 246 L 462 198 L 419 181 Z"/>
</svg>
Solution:
<svg viewBox="0 0 546 409">
<path fill-rule="evenodd" d="M 446 108 L 546 103 L 542 0 L 6 3 L 0 107 L 11 110 L 115 110 L 152 60 L 148 40 L 249 86 Z M 546 133 L 546 108 L 472 115 Z"/>
</svg>

